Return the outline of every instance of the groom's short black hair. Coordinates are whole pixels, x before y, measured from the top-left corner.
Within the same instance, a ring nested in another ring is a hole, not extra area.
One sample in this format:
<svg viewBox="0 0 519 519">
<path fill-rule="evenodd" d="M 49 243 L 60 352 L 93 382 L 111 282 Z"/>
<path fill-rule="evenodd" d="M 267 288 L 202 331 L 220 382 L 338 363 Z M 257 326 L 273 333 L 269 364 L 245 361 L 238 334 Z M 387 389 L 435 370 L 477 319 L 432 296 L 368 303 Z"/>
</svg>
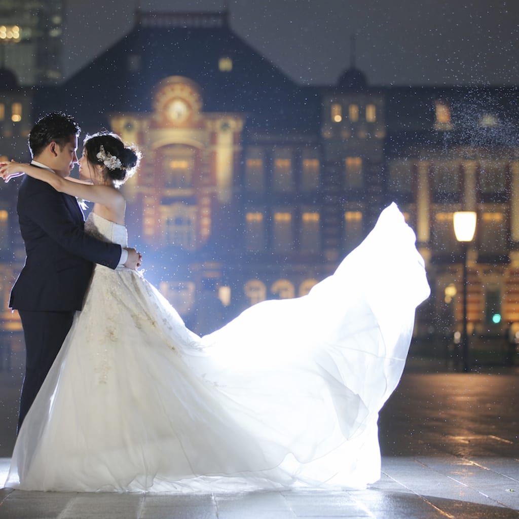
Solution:
<svg viewBox="0 0 519 519">
<path fill-rule="evenodd" d="M 52 112 L 38 119 L 29 133 L 31 155 L 37 157 L 51 142 L 63 149 L 73 135 L 79 135 L 81 128 L 77 122 L 62 112 Z"/>
</svg>

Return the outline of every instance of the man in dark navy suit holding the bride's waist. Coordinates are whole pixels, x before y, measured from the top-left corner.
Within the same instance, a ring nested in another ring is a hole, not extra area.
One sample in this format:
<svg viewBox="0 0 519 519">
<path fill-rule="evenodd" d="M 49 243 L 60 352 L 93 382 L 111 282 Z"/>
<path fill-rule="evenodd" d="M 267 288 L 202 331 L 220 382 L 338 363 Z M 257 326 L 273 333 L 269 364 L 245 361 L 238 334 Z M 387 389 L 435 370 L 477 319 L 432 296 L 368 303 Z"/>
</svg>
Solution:
<svg viewBox="0 0 519 519">
<path fill-rule="evenodd" d="M 79 131 L 74 119 L 65 114 L 39 119 L 29 134 L 32 165 L 69 176 L 77 162 Z M 25 337 L 20 430 L 72 326 L 75 311 L 83 305 L 93 264 L 136 268 L 139 254 L 85 234 L 77 200 L 28 175 L 20 185 L 17 211 L 26 258 L 9 306 L 18 310 Z"/>
</svg>

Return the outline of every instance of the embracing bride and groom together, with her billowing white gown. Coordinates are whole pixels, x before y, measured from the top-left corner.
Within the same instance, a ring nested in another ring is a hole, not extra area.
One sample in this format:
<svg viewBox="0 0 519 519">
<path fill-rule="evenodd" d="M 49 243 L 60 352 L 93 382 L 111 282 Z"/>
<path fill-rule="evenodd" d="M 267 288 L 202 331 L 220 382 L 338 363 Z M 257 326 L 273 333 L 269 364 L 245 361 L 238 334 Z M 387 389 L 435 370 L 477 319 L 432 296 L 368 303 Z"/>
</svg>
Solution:
<svg viewBox="0 0 519 519">
<path fill-rule="evenodd" d="M 377 418 L 429 293 L 413 231 L 385 209 L 307 296 L 199 337 L 136 270 L 117 189 L 139 152 L 50 114 L 31 131 L 12 290 L 27 362 L 6 486 L 61 491 L 359 487 L 380 475 Z M 74 197 L 94 202 L 83 221 Z M 380 261 L 381 253 L 384 262 Z M 406 290 L 402 290 L 402 286 Z M 34 401 L 33 401 L 34 400 Z M 22 423 L 23 422 L 23 423 Z"/>
</svg>

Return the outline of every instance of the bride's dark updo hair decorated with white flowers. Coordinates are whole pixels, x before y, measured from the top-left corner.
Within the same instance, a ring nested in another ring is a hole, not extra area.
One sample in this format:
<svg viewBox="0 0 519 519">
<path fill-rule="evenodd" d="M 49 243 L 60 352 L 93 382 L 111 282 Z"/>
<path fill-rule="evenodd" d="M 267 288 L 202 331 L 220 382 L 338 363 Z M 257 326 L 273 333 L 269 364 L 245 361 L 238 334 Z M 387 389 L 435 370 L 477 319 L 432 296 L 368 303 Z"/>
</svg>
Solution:
<svg viewBox="0 0 519 519">
<path fill-rule="evenodd" d="M 87 160 L 106 167 L 106 176 L 115 186 L 124 184 L 135 173 L 141 152 L 135 146 L 125 146 L 120 137 L 111 132 L 87 135 L 83 142 Z"/>
</svg>

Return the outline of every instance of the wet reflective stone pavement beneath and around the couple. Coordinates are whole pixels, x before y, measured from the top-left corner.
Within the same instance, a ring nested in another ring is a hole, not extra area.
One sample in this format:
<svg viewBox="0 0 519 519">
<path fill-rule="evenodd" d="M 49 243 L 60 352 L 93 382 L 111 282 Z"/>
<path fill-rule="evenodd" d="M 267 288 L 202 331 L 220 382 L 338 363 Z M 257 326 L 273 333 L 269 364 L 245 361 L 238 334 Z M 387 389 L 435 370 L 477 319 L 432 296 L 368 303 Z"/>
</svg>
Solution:
<svg viewBox="0 0 519 519">
<path fill-rule="evenodd" d="M 519 518 L 519 368 L 478 371 L 409 359 L 379 420 L 381 478 L 363 490 L 185 496 L 4 488 L 0 518 Z M 13 442 L 2 424 L 11 423 L 8 400 L 16 395 L 5 379 L 0 373 L 0 486 Z"/>
</svg>

